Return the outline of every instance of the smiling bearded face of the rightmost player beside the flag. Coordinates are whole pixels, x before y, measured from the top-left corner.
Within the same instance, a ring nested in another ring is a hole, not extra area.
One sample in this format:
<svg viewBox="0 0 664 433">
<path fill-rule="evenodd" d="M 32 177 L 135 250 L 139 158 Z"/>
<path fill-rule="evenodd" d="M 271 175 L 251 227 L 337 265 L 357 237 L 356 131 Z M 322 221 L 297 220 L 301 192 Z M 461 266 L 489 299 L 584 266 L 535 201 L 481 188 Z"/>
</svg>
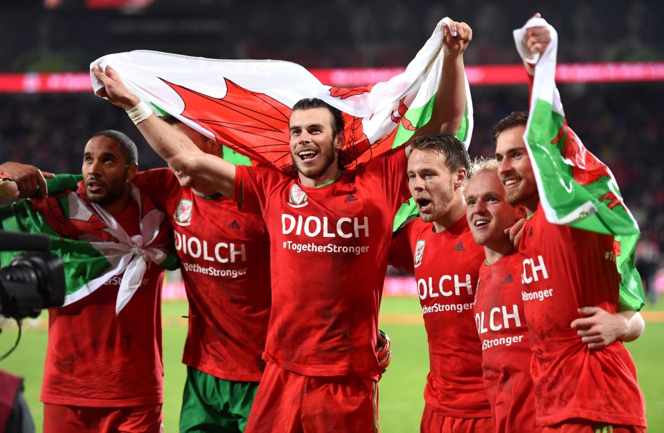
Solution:
<svg viewBox="0 0 664 433">
<path fill-rule="evenodd" d="M 496 139 L 496 160 L 498 175 L 505 186 L 505 200 L 510 204 L 523 204 L 532 213 L 537 209 L 539 194 L 528 149 L 523 143 L 525 131 L 525 126 L 517 126 L 501 132 Z"/>
</svg>

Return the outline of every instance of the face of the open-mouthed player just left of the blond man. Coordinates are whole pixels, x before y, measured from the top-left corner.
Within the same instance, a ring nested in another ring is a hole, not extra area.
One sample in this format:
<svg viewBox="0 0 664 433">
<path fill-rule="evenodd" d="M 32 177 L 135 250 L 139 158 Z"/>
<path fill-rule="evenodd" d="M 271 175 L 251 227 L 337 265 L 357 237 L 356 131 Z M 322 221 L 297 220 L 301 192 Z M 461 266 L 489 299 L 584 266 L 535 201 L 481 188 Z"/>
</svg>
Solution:
<svg viewBox="0 0 664 433">
<path fill-rule="evenodd" d="M 435 150 L 413 149 L 408 158 L 408 188 L 424 222 L 442 223 L 455 200 L 455 191 L 465 179 L 466 170 L 450 173 L 445 156 Z M 462 214 L 463 215 L 463 214 Z M 436 227 L 436 230 L 442 227 Z"/>
</svg>

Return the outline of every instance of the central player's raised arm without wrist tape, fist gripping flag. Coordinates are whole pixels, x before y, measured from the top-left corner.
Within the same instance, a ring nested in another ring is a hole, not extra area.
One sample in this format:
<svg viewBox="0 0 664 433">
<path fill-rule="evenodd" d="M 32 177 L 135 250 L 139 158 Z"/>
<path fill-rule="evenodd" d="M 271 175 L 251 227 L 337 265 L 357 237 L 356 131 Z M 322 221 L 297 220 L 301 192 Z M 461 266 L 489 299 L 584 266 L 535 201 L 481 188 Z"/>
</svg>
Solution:
<svg viewBox="0 0 664 433">
<path fill-rule="evenodd" d="M 436 103 L 433 105 L 429 122 L 415 131 L 413 137 L 435 133 L 454 135 L 458 132 L 465 114 L 466 85 L 463 52 L 472 40 L 473 30 L 466 23 L 451 20 L 449 27 L 445 24 L 443 27 L 445 37 L 443 37 L 442 49 L 445 54 L 440 85 L 438 85 L 436 93 Z M 406 155 L 409 154 L 410 148 L 406 147 Z"/>
</svg>

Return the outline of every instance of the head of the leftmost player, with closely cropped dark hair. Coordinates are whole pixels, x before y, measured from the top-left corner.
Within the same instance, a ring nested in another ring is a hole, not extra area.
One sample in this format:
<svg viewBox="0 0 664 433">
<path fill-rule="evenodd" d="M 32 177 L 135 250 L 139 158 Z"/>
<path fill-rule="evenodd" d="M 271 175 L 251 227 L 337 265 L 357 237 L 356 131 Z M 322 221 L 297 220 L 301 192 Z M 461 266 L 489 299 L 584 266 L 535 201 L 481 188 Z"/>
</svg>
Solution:
<svg viewBox="0 0 664 433">
<path fill-rule="evenodd" d="M 85 195 L 112 215 L 123 211 L 129 197 L 129 182 L 138 166 L 127 166 L 127 160 L 116 141 L 107 136 L 90 139 L 83 151 L 82 174 Z"/>
</svg>

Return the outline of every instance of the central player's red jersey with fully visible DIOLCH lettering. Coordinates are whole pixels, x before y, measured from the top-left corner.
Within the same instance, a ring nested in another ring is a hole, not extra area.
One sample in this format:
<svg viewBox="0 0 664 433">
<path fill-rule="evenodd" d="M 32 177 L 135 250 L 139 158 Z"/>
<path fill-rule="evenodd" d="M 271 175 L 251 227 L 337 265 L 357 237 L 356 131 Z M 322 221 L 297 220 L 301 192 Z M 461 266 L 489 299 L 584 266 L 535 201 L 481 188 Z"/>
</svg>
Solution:
<svg viewBox="0 0 664 433">
<path fill-rule="evenodd" d="M 234 196 L 270 233 L 267 360 L 302 375 L 379 378 L 378 307 L 394 215 L 409 196 L 405 173 L 404 148 L 321 188 L 237 166 Z"/>
</svg>

